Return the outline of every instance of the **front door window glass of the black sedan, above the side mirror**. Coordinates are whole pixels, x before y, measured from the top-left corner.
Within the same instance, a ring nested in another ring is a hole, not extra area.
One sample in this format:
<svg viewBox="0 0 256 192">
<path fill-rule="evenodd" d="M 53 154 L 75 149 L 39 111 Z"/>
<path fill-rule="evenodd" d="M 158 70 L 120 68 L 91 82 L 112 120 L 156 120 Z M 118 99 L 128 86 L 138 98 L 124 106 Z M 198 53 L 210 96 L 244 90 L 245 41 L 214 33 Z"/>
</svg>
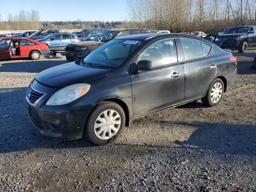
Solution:
<svg viewBox="0 0 256 192">
<path fill-rule="evenodd" d="M 140 60 L 150 60 L 153 67 L 176 63 L 177 51 L 174 39 L 160 40 L 150 45 L 138 58 Z"/>
</svg>

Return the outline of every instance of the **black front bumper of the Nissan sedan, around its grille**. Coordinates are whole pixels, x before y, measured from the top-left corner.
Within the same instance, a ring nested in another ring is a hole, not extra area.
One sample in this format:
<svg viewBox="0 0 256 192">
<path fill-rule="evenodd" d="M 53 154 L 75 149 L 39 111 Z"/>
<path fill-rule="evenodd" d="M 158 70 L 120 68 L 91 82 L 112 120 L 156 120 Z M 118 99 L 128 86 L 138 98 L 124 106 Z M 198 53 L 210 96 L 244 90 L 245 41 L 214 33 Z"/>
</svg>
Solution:
<svg viewBox="0 0 256 192">
<path fill-rule="evenodd" d="M 69 104 L 46 106 L 47 100 L 57 90 L 43 86 L 33 80 L 33 90 L 45 93 L 36 102 L 31 102 L 26 92 L 28 118 L 36 130 L 44 136 L 65 138 L 68 140 L 82 137 L 85 120 L 93 106 L 81 98 Z"/>
</svg>

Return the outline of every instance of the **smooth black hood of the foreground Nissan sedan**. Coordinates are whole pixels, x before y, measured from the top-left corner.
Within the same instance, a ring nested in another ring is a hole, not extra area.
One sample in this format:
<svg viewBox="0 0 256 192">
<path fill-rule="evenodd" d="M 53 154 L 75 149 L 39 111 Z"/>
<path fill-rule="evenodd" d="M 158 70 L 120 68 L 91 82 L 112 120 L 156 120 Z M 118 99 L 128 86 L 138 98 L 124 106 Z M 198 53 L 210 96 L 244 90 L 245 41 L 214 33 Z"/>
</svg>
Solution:
<svg viewBox="0 0 256 192">
<path fill-rule="evenodd" d="M 62 88 L 75 83 L 87 83 L 102 79 L 110 69 L 83 67 L 75 62 L 58 65 L 46 69 L 36 75 L 36 81 L 54 88 Z"/>
</svg>

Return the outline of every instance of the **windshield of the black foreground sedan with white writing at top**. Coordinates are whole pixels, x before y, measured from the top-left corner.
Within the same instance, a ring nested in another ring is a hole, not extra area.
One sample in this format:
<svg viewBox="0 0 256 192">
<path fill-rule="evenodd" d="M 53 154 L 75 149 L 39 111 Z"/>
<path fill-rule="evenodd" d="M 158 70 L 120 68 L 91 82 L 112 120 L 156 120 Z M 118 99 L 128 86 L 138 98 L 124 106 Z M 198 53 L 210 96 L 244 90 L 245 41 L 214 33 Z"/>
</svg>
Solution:
<svg viewBox="0 0 256 192">
<path fill-rule="evenodd" d="M 138 40 L 117 39 L 109 41 L 91 52 L 79 65 L 95 68 L 116 68 L 142 44 Z"/>
</svg>

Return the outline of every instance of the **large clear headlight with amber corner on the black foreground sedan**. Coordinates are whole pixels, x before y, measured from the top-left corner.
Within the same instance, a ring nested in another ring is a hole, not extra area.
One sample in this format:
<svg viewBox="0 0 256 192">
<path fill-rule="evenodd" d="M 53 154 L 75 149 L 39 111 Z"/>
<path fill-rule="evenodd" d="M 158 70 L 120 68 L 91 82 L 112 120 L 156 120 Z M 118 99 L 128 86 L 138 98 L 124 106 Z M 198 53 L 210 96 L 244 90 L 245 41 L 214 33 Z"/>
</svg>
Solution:
<svg viewBox="0 0 256 192">
<path fill-rule="evenodd" d="M 46 102 L 46 105 L 63 105 L 70 103 L 83 96 L 90 90 L 91 85 L 87 83 L 78 83 L 66 86 L 54 93 Z"/>
</svg>

